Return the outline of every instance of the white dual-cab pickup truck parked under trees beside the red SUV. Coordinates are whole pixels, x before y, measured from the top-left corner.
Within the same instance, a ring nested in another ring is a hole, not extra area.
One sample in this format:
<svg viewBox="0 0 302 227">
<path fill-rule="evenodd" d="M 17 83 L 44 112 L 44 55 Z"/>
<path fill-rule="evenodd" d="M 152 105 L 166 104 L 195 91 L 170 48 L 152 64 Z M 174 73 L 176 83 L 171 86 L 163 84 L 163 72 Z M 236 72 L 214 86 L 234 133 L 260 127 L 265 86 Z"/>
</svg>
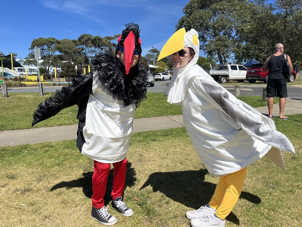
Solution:
<svg viewBox="0 0 302 227">
<path fill-rule="evenodd" d="M 211 64 L 202 64 L 209 65 L 210 70 L 205 70 L 213 79 L 220 83 L 226 83 L 227 81 L 239 81 L 243 82 L 246 80 L 246 70 L 247 68 L 243 65 L 236 64 L 222 64 L 217 67 L 217 69 L 212 69 Z"/>
</svg>

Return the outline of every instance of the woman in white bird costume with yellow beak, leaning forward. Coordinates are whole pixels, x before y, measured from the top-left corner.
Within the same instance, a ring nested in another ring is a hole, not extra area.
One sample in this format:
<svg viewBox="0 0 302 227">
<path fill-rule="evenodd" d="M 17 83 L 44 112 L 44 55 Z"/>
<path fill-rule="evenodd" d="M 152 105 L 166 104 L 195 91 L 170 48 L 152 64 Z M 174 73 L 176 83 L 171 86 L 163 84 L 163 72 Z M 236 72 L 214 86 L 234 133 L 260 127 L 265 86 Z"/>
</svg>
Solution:
<svg viewBox="0 0 302 227">
<path fill-rule="evenodd" d="M 185 127 L 211 175 L 219 176 L 208 204 L 188 211 L 191 226 L 225 226 L 246 176 L 247 166 L 267 155 L 285 171 L 281 149 L 295 153 L 272 119 L 238 100 L 200 66 L 198 32 L 181 28 L 167 41 L 158 61 L 171 55 L 170 104 L 182 105 Z"/>
</svg>

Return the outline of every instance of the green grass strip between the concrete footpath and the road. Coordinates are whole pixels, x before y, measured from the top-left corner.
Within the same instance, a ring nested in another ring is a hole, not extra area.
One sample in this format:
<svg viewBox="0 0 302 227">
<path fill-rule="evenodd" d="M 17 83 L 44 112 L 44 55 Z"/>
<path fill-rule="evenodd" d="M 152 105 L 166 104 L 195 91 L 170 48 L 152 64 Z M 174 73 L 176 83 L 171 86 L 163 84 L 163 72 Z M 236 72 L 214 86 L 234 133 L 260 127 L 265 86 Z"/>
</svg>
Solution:
<svg viewBox="0 0 302 227">
<path fill-rule="evenodd" d="M 37 92 L 9 93 L 8 98 L 0 97 L 0 131 L 31 128 L 34 111 L 38 104 L 50 97 L 51 93 L 41 97 Z M 170 105 L 164 93 L 147 93 L 147 99 L 140 104 L 134 114 L 134 118 L 159 117 L 182 114 L 182 107 Z M 241 100 L 253 107 L 266 106 L 260 96 L 242 96 Z M 275 100 L 275 103 L 278 100 Z M 60 125 L 77 124 L 78 107 L 72 106 L 62 110 L 56 116 L 42 121 L 34 126 L 50 127 Z"/>
</svg>

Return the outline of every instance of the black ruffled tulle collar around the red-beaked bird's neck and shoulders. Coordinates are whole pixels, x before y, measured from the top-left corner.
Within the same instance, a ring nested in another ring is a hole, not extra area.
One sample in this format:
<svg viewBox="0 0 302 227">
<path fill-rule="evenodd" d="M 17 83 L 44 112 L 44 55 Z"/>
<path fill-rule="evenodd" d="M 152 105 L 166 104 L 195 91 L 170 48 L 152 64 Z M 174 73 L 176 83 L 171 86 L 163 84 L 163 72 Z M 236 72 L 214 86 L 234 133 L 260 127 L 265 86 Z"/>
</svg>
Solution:
<svg viewBox="0 0 302 227">
<path fill-rule="evenodd" d="M 126 75 L 125 66 L 110 54 L 100 54 L 92 61 L 92 72 L 98 87 L 116 100 L 123 100 L 124 106 L 146 99 L 148 75 L 140 65 L 133 66 Z"/>
</svg>

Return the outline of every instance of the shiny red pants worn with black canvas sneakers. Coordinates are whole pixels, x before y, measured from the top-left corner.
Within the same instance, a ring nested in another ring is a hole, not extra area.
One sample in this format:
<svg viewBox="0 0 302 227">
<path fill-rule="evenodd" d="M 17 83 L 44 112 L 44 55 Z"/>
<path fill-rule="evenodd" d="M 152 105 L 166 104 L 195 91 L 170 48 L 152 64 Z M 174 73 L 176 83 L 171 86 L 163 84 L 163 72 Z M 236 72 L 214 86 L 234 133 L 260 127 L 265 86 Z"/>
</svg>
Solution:
<svg viewBox="0 0 302 227">
<path fill-rule="evenodd" d="M 113 185 L 111 197 L 116 199 L 122 196 L 127 169 L 127 158 L 124 160 L 112 163 L 113 169 Z M 110 163 L 101 163 L 94 161 L 94 172 L 92 175 L 92 206 L 101 209 L 104 206 L 104 196 L 106 192 L 107 179 L 110 171 Z"/>
</svg>

